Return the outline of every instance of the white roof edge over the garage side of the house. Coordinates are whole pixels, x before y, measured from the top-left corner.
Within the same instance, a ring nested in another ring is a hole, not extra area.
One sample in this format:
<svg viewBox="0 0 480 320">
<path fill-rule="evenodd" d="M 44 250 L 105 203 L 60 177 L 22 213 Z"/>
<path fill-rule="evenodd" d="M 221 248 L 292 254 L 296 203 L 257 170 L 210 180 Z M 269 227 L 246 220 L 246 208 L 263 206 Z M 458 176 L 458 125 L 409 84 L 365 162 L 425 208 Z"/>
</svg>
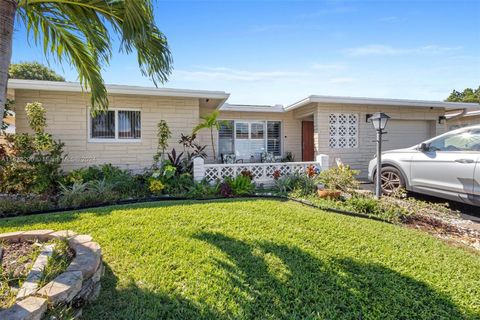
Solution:
<svg viewBox="0 0 480 320">
<path fill-rule="evenodd" d="M 381 105 L 381 106 L 400 106 L 400 107 L 423 107 L 423 108 L 443 108 L 446 110 L 459 109 L 479 109 L 478 103 L 463 102 L 444 102 L 430 100 L 409 100 L 409 99 L 382 99 L 382 98 L 361 98 L 361 97 L 338 97 L 338 96 L 317 96 L 312 95 L 303 100 L 295 102 L 287 107 L 285 111 L 294 110 L 310 103 L 320 104 L 344 104 L 344 105 Z"/>
</svg>

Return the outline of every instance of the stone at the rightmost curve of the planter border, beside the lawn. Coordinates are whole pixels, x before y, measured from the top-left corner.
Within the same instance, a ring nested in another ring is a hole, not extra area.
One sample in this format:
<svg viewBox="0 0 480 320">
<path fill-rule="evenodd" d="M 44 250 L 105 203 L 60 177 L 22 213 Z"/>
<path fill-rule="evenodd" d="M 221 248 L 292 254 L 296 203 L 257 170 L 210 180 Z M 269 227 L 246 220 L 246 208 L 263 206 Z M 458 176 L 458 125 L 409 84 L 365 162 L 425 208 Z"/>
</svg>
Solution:
<svg viewBox="0 0 480 320">
<path fill-rule="evenodd" d="M 73 247 L 75 258 L 67 268 L 67 271 L 81 271 L 84 279 L 88 279 L 100 265 L 102 253 L 96 242 L 86 242 Z"/>
</svg>

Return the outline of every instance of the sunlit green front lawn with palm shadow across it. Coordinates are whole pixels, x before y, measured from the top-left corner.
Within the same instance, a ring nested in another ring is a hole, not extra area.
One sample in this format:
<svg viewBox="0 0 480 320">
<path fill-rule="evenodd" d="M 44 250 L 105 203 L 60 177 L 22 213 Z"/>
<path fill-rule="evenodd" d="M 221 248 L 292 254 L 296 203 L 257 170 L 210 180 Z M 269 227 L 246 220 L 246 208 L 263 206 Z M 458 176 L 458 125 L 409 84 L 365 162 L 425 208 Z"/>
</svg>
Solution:
<svg viewBox="0 0 480 320">
<path fill-rule="evenodd" d="M 161 202 L 0 220 L 103 248 L 86 319 L 480 319 L 480 255 L 290 201 Z"/>
</svg>

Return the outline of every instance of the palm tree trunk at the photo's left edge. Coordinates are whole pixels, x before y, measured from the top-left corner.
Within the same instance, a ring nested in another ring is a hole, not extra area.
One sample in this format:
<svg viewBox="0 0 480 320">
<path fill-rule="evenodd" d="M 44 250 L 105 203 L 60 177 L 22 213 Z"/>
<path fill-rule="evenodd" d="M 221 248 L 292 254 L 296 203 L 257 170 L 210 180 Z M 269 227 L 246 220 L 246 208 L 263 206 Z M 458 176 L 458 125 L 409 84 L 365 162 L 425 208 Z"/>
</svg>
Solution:
<svg viewBox="0 0 480 320">
<path fill-rule="evenodd" d="M 8 68 L 12 59 L 13 24 L 17 11 L 16 0 L 0 0 L 0 118 L 7 102 Z"/>
</svg>

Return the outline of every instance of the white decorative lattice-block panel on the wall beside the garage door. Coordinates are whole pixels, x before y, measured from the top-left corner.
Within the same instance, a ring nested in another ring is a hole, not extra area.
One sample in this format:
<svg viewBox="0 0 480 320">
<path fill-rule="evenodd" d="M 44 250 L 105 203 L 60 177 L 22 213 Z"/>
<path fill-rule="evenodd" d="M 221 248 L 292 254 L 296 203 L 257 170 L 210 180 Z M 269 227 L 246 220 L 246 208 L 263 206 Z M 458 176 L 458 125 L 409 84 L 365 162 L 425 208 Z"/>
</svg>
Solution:
<svg viewBox="0 0 480 320">
<path fill-rule="evenodd" d="M 358 148 L 358 114 L 332 113 L 328 117 L 332 149 Z"/>
</svg>

